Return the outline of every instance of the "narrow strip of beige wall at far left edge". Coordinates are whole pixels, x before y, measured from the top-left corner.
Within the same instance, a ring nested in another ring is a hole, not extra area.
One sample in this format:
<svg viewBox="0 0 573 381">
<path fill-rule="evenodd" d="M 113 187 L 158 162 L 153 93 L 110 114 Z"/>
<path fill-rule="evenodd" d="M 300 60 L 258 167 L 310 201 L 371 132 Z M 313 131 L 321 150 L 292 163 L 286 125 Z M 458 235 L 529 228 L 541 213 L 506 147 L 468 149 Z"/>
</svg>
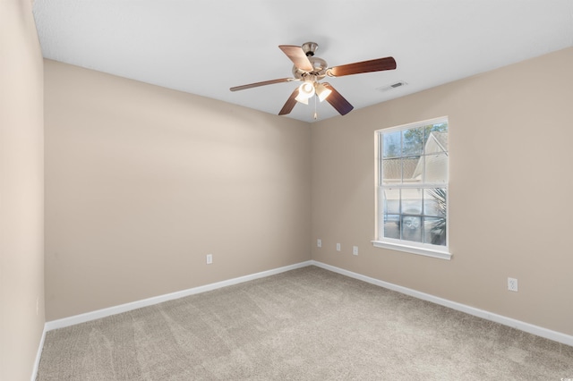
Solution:
<svg viewBox="0 0 573 381">
<path fill-rule="evenodd" d="M 0 1 L 0 380 L 30 379 L 44 328 L 42 55 L 29 0 Z"/>
</svg>

